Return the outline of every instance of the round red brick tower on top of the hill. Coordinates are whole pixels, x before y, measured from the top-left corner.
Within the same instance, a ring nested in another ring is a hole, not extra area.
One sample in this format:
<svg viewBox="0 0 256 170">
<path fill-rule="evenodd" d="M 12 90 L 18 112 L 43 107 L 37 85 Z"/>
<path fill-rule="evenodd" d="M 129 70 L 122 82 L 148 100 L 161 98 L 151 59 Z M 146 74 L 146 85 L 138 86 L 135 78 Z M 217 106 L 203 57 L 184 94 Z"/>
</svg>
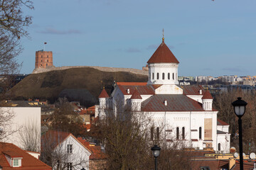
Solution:
<svg viewBox="0 0 256 170">
<path fill-rule="evenodd" d="M 36 52 L 36 68 L 44 68 L 53 66 L 53 52 L 51 51 L 37 51 Z"/>
</svg>

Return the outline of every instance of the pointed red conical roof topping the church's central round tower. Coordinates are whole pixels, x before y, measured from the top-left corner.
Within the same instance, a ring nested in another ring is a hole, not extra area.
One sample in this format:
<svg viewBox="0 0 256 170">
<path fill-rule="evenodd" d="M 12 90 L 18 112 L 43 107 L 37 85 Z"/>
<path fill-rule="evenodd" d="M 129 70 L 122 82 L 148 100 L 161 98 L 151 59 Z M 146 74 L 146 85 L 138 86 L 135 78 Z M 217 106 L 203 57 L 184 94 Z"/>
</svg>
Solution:
<svg viewBox="0 0 256 170">
<path fill-rule="evenodd" d="M 149 63 L 179 63 L 174 54 L 171 52 L 169 47 L 163 42 L 161 42 L 161 45 L 156 49 L 154 54 L 150 57 Z"/>
</svg>

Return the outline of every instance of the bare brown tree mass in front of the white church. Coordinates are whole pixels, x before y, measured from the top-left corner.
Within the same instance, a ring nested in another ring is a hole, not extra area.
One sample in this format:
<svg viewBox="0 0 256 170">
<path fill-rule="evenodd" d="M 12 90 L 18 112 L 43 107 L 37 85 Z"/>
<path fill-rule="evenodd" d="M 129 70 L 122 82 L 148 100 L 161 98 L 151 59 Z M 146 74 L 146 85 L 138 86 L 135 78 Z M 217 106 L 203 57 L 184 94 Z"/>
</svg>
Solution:
<svg viewBox="0 0 256 170">
<path fill-rule="evenodd" d="M 146 113 L 108 113 L 104 120 L 100 120 L 97 129 L 100 134 L 98 140 L 105 146 L 108 155 L 107 169 L 153 169 L 151 147 L 154 145 L 161 147 L 159 169 L 189 169 L 189 154 L 181 152 L 183 141 L 173 138 L 172 142 L 166 142 L 164 126 L 160 124 L 152 134 L 154 123 Z"/>
</svg>

